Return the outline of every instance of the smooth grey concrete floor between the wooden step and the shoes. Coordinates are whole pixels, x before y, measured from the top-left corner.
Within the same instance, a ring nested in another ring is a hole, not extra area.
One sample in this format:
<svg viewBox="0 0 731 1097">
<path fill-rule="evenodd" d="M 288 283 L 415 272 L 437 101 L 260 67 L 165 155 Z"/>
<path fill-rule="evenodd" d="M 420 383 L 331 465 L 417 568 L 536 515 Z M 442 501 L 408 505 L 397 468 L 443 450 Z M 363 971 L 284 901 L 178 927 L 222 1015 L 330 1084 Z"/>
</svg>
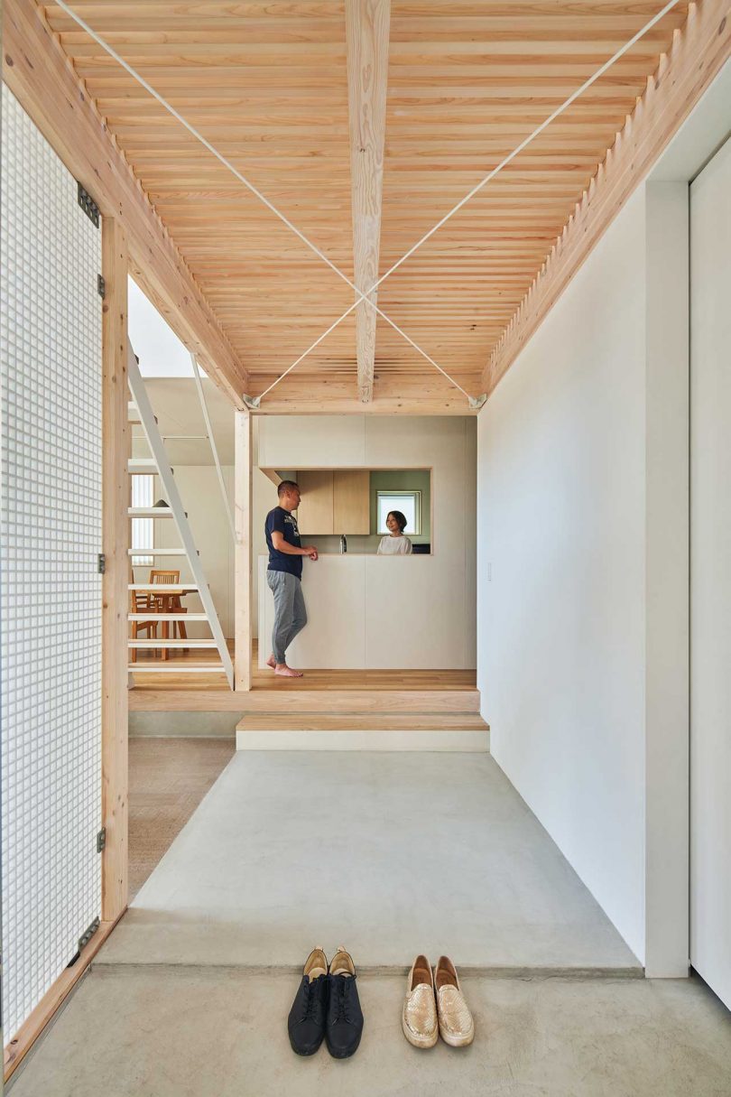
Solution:
<svg viewBox="0 0 731 1097">
<path fill-rule="evenodd" d="M 235 757 L 100 952 L 105 963 L 636 972 L 489 755 Z"/>
</svg>

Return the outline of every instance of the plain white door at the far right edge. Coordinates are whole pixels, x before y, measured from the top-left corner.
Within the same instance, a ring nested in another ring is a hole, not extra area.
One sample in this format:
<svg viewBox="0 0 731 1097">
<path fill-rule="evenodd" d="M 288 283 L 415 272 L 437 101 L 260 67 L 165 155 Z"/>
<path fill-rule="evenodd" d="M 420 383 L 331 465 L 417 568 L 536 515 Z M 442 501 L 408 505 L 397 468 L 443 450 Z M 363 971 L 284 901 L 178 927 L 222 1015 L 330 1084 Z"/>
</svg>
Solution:
<svg viewBox="0 0 731 1097">
<path fill-rule="evenodd" d="M 731 140 L 690 186 L 690 962 L 731 1007 Z"/>
</svg>

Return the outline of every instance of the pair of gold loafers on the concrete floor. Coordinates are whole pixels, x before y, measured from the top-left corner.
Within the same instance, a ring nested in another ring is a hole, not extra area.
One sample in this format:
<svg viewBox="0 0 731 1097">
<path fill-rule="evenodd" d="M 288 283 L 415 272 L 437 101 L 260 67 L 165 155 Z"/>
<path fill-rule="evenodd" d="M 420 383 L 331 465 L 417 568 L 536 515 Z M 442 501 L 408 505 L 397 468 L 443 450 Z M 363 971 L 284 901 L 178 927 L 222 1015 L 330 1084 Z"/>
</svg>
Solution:
<svg viewBox="0 0 731 1097">
<path fill-rule="evenodd" d="M 472 1042 L 475 1020 L 448 957 L 439 957 L 434 971 L 426 957 L 416 957 L 407 982 L 401 1027 L 414 1048 L 433 1048 L 439 1037 L 452 1048 Z"/>
</svg>

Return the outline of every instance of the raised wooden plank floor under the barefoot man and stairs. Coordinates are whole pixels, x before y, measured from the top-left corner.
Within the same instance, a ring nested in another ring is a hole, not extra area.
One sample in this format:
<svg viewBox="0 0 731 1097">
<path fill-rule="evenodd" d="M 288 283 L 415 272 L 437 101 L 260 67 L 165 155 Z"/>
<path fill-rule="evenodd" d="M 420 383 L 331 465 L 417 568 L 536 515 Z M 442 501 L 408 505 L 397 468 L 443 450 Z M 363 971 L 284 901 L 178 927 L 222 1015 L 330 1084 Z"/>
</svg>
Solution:
<svg viewBox="0 0 731 1097">
<path fill-rule="evenodd" d="M 230 643 L 229 646 L 232 647 Z M 162 664 L 159 658 L 153 658 L 146 652 L 140 652 L 139 663 L 146 667 L 162 665 L 171 667 L 174 664 L 190 666 L 191 664 L 203 664 L 215 661 L 218 658 L 216 652 L 191 651 L 187 655 L 182 652 L 171 652 L 170 658 Z M 189 697 L 193 700 L 194 706 L 199 708 L 198 694 L 205 694 L 209 701 L 210 710 L 226 709 L 235 711 L 247 708 L 244 698 L 251 698 L 250 693 L 232 693 L 228 688 L 224 674 L 212 675 L 182 670 L 180 674 L 165 670 L 160 674 L 144 672 L 134 674 L 135 688 L 129 691 L 129 708 L 133 710 L 164 709 L 164 697 L 172 703 L 172 694 L 178 694 L 181 699 Z M 258 665 L 258 651 L 254 641 L 252 652 L 252 693 L 261 695 L 269 693 L 282 695 L 287 693 L 301 694 L 302 692 L 329 692 L 336 693 L 343 690 L 381 692 L 384 690 L 395 692 L 448 692 L 464 691 L 473 693 L 476 690 L 475 670 L 308 670 L 304 678 L 281 678 L 269 669 L 261 669 Z M 261 699 L 264 700 L 263 698 Z M 293 698 L 294 700 L 294 698 Z M 395 700 L 391 698 L 391 700 Z M 436 700 L 436 699 L 433 699 Z M 189 701 L 189 703 L 190 703 Z M 175 705 L 178 706 L 178 705 Z M 185 706 L 183 700 L 182 706 Z M 259 705 L 256 705 L 259 706 Z M 424 704 L 424 709 L 432 708 L 432 701 Z"/>
</svg>

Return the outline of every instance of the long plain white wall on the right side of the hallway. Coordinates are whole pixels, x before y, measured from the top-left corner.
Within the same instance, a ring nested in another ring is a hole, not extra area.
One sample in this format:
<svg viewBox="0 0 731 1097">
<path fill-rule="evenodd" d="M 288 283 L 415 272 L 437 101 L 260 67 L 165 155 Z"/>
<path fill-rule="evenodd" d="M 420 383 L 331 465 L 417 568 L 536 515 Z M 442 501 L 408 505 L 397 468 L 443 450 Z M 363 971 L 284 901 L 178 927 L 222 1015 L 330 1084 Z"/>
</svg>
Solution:
<svg viewBox="0 0 731 1097">
<path fill-rule="evenodd" d="M 688 970 L 688 183 L 730 126 L 731 61 L 478 422 L 492 750 L 655 976 Z"/>
</svg>

